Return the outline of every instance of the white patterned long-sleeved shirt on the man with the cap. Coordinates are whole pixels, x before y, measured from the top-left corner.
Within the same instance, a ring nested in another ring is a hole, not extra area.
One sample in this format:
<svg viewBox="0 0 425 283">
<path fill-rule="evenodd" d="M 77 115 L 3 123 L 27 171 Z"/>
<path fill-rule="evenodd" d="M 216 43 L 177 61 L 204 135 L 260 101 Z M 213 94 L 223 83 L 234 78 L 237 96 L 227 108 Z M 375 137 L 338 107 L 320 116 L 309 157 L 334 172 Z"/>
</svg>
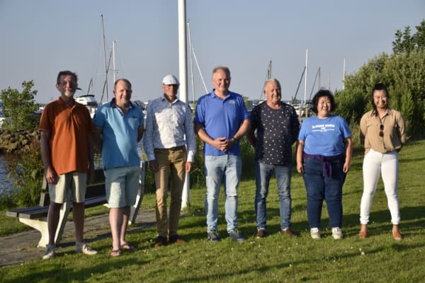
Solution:
<svg viewBox="0 0 425 283">
<path fill-rule="evenodd" d="M 148 161 L 155 159 L 154 149 L 171 149 L 184 145 L 188 151 L 187 161 L 193 162 L 196 141 L 189 105 L 179 98 L 169 103 L 164 96 L 149 102 L 143 136 Z"/>
</svg>

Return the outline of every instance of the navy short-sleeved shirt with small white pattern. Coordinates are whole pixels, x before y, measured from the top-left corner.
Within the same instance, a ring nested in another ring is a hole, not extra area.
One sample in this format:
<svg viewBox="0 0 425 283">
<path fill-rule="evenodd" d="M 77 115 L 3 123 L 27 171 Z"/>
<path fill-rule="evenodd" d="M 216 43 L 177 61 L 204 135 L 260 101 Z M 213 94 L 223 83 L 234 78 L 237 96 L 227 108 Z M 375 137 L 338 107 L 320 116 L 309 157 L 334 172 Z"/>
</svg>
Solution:
<svg viewBox="0 0 425 283">
<path fill-rule="evenodd" d="M 251 113 L 251 127 L 256 130 L 255 160 L 271 165 L 290 165 L 293 129 L 300 127 L 293 106 L 280 102 L 280 109 L 270 108 L 266 102 Z"/>
</svg>

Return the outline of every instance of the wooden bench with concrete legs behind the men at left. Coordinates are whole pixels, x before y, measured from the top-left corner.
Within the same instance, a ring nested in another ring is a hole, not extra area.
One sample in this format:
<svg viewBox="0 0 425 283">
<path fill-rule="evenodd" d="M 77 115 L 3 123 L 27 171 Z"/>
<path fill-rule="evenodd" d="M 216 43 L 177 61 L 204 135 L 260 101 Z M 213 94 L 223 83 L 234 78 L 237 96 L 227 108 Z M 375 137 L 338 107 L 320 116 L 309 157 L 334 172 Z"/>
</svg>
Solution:
<svg viewBox="0 0 425 283">
<path fill-rule="evenodd" d="M 136 203 L 130 207 L 130 217 L 128 224 L 135 223 L 140 204 L 142 203 L 143 194 L 145 193 L 146 165 L 146 161 L 141 161 L 141 175 L 139 180 L 139 188 L 137 190 Z M 87 185 L 86 200 L 84 202 L 84 207 L 86 208 L 96 207 L 98 205 L 108 206 L 106 201 L 105 177 L 103 176 L 103 170 L 98 169 L 95 171 L 95 174 L 95 182 Z M 14 209 L 6 212 L 7 216 L 18 217 L 19 221 L 21 221 L 23 224 L 26 224 L 40 231 L 41 238 L 37 245 L 39 248 L 45 248 L 47 243 L 49 243 L 49 233 L 47 231 L 47 212 L 49 210 L 49 204 L 49 190 L 47 187 L 47 182 L 43 180 L 40 204 L 38 206 Z M 65 202 L 62 204 L 60 209 L 60 219 L 57 226 L 55 243 L 60 243 L 65 224 L 67 223 L 69 212 L 72 212 L 72 202 Z"/>
</svg>

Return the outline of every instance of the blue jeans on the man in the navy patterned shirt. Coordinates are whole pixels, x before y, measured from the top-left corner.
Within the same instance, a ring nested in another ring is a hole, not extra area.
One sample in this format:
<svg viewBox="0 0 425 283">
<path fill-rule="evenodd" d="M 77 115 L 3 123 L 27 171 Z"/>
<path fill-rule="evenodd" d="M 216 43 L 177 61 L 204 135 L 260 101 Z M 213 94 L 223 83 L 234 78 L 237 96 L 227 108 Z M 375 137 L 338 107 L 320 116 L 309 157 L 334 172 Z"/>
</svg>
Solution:
<svg viewBox="0 0 425 283">
<path fill-rule="evenodd" d="M 255 215 L 257 229 L 266 229 L 266 198 L 272 173 L 276 175 L 280 204 L 280 229 L 290 227 L 290 177 L 291 166 L 255 163 Z"/>
</svg>

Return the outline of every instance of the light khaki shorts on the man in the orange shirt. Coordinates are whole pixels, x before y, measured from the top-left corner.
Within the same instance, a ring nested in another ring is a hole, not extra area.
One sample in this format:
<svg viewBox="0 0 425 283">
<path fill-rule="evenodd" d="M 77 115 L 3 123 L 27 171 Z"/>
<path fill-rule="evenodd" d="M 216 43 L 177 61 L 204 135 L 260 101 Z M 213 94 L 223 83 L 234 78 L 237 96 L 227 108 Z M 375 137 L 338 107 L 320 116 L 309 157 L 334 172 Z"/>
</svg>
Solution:
<svg viewBox="0 0 425 283">
<path fill-rule="evenodd" d="M 57 175 L 57 183 L 49 184 L 50 202 L 84 202 L 86 199 L 87 173 L 70 172 Z"/>
</svg>

